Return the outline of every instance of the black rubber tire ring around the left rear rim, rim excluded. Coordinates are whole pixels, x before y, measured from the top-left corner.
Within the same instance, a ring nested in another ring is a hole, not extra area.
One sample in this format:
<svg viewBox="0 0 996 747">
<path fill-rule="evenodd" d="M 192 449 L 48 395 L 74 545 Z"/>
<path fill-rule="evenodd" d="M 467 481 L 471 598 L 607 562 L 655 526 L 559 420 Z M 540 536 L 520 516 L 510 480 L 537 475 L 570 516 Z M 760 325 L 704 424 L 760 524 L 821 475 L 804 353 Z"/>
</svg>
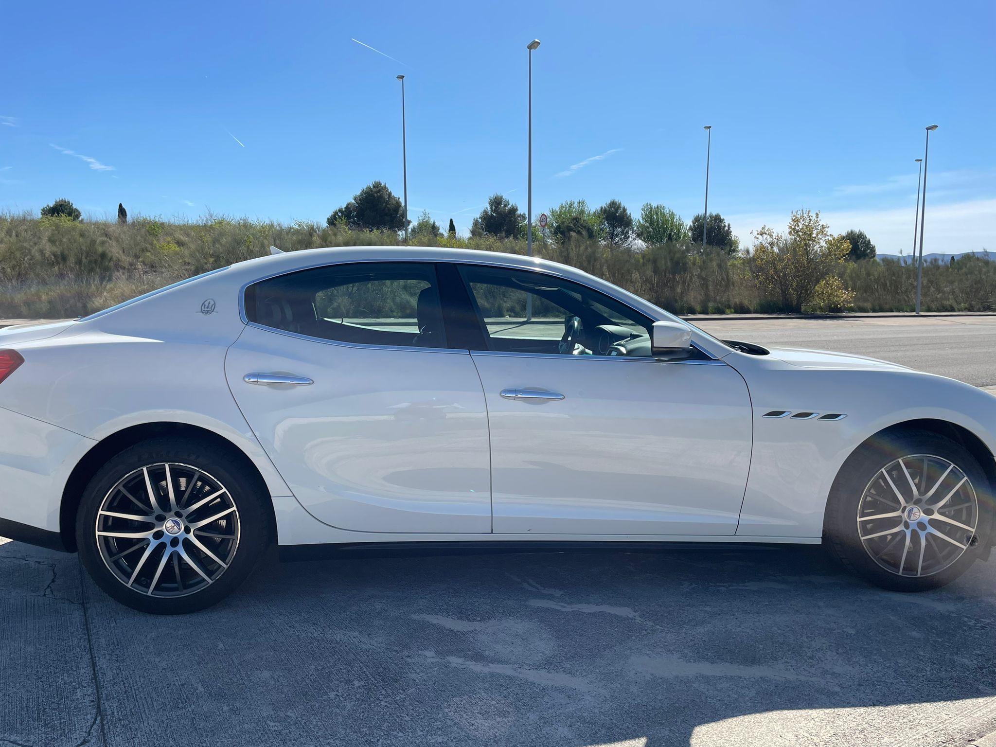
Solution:
<svg viewBox="0 0 996 747">
<path fill-rule="evenodd" d="M 94 527 L 107 494 L 128 473 L 149 464 L 177 462 L 202 469 L 228 490 L 239 512 L 239 544 L 225 572 L 205 589 L 186 597 L 149 597 L 128 589 L 101 557 Z M 232 454 L 209 442 L 161 437 L 142 441 L 112 457 L 94 475 L 84 491 L 77 511 L 76 541 L 80 560 L 94 582 L 110 597 L 144 613 L 182 615 L 217 604 L 245 581 L 272 537 L 270 514 L 263 500 L 265 489 L 247 476 Z"/>
</svg>

